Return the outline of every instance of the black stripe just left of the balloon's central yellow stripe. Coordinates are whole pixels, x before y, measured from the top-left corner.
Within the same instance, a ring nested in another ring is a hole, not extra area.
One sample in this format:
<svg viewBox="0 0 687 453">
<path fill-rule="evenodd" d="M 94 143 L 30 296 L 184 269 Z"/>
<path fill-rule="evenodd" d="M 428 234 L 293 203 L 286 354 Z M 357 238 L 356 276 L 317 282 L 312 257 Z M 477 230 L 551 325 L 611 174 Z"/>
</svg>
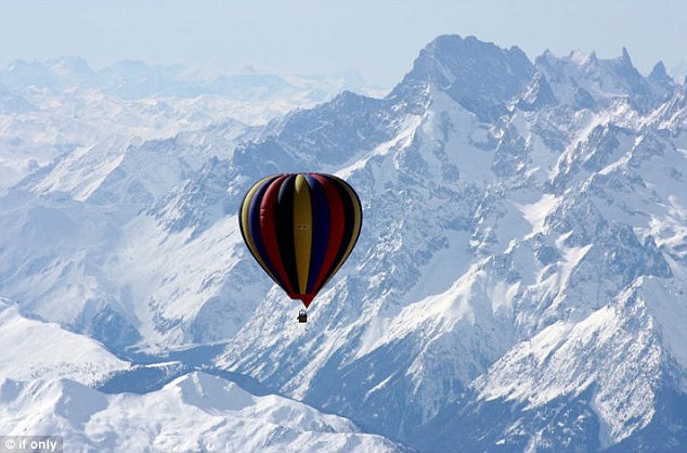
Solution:
<svg viewBox="0 0 687 453">
<path fill-rule="evenodd" d="M 276 196 L 276 213 L 274 228 L 276 243 L 280 248 L 282 264 L 286 270 L 288 281 L 298 294 L 298 272 L 296 269 L 296 245 L 294 244 L 294 194 L 296 192 L 296 174 L 287 177 Z"/>
</svg>

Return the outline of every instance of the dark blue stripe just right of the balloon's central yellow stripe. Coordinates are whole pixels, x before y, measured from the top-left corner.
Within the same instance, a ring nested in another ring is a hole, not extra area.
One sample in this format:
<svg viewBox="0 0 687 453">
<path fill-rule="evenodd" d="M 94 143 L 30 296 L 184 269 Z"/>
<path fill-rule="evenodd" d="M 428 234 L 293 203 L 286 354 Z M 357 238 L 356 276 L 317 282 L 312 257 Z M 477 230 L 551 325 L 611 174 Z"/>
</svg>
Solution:
<svg viewBox="0 0 687 453">
<path fill-rule="evenodd" d="M 312 248 L 306 294 L 310 294 L 317 280 L 329 243 L 329 204 L 324 186 L 311 176 L 306 176 L 310 186 L 310 206 L 312 210 Z"/>
</svg>

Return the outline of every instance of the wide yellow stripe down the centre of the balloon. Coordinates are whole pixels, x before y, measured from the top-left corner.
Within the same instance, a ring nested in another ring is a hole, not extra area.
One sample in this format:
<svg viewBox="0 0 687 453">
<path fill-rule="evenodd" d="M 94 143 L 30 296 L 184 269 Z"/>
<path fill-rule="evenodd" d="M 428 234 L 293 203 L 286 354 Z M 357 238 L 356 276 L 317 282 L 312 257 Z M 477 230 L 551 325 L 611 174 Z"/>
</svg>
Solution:
<svg viewBox="0 0 687 453">
<path fill-rule="evenodd" d="M 294 193 L 294 247 L 296 248 L 296 270 L 300 294 L 308 290 L 310 251 L 312 249 L 312 206 L 310 187 L 302 174 L 296 176 Z"/>
</svg>

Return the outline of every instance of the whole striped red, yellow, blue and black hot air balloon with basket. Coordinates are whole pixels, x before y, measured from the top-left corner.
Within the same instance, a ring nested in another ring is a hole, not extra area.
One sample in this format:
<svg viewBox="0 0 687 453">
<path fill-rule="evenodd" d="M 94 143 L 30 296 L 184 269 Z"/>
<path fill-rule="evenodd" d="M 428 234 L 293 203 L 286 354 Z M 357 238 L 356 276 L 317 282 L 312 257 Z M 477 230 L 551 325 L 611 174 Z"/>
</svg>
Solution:
<svg viewBox="0 0 687 453">
<path fill-rule="evenodd" d="M 363 218 L 355 191 L 323 173 L 263 178 L 248 190 L 239 213 L 254 258 L 306 308 L 350 255 Z M 302 310 L 299 321 L 306 321 Z"/>
</svg>

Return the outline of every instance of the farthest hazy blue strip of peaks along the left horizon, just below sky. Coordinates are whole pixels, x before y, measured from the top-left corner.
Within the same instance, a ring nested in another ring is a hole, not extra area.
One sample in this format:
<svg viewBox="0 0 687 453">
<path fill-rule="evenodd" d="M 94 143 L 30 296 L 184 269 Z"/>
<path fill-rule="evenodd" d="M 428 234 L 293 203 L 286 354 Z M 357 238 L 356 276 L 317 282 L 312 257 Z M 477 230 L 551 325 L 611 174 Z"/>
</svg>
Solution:
<svg viewBox="0 0 687 453">
<path fill-rule="evenodd" d="M 220 95 L 252 102 L 283 98 L 285 94 L 302 95 L 303 88 L 366 89 L 362 77 L 354 72 L 323 76 L 281 76 L 247 67 L 237 74 L 204 76 L 182 65 L 152 66 L 140 61 L 121 61 L 94 70 L 79 56 L 43 62 L 17 60 L 0 70 L 0 86 L 11 91 L 29 88 L 96 90 L 127 100 Z"/>
</svg>

